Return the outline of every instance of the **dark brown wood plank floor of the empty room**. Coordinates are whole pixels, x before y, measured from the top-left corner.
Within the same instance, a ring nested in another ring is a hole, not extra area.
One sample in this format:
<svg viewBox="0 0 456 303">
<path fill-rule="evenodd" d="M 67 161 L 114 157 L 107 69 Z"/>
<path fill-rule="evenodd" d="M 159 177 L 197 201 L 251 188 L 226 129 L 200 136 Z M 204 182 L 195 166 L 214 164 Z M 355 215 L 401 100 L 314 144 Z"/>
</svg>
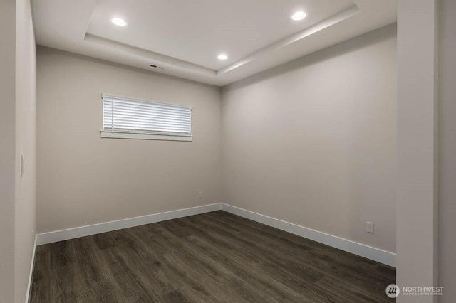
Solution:
<svg viewBox="0 0 456 303">
<path fill-rule="evenodd" d="M 224 211 L 38 246 L 31 302 L 391 302 L 395 269 Z"/>
</svg>

